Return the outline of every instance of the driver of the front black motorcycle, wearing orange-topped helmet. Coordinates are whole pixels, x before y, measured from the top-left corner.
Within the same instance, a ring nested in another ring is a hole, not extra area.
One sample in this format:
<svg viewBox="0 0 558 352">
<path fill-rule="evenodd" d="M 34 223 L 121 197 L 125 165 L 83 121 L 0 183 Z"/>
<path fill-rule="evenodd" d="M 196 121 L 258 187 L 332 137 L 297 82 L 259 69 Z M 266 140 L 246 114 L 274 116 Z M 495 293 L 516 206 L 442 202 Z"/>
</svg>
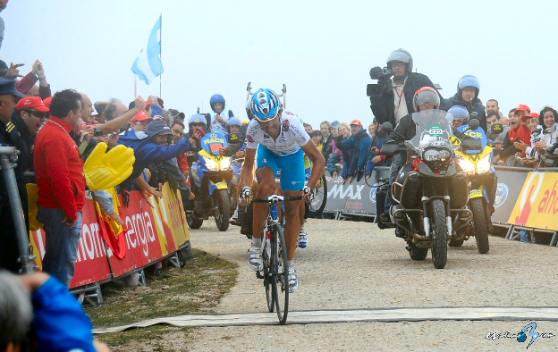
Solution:
<svg viewBox="0 0 558 352">
<path fill-rule="evenodd" d="M 432 110 L 432 109 L 439 109 L 440 107 L 440 96 L 438 95 L 435 88 L 430 87 L 423 87 L 419 88 L 415 93 L 413 98 L 413 108 L 415 112 L 425 111 L 425 110 Z M 410 140 L 411 138 L 415 137 L 417 133 L 417 128 L 415 122 L 412 120 L 412 113 L 409 113 L 401 119 L 395 130 L 393 130 L 385 141 L 385 144 L 393 144 L 393 143 L 400 143 L 404 140 Z M 404 137 L 404 139 L 402 137 Z M 393 155 L 393 160 L 395 160 L 395 156 Z M 400 160 L 407 159 L 406 152 L 399 152 Z M 392 163 L 392 167 L 390 169 L 390 186 L 393 181 L 397 178 L 400 169 L 402 169 L 402 165 L 399 163 Z M 391 187 L 387 191 L 387 195 L 385 198 L 387 199 L 391 196 Z M 387 204 L 387 201 L 385 202 Z M 391 206 L 391 205 L 390 205 Z M 391 222 L 389 217 L 389 207 L 386 205 L 385 207 L 385 214 L 381 214 L 382 222 Z M 395 228 L 395 236 L 403 238 L 405 236 L 405 231 L 397 226 Z"/>
</svg>

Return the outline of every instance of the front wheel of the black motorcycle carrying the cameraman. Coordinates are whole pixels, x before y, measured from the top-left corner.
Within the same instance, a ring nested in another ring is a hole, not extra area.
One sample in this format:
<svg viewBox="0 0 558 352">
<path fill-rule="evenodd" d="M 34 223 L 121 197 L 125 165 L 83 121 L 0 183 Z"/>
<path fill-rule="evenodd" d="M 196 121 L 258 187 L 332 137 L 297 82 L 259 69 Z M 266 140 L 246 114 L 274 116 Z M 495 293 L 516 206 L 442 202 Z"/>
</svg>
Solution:
<svg viewBox="0 0 558 352">
<path fill-rule="evenodd" d="M 445 205 L 442 199 L 433 199 L 432 219 L 432 262 L 436 269 L 444 269 L 447 262 L 447 223 L 445 222 Z"/>
</svg>

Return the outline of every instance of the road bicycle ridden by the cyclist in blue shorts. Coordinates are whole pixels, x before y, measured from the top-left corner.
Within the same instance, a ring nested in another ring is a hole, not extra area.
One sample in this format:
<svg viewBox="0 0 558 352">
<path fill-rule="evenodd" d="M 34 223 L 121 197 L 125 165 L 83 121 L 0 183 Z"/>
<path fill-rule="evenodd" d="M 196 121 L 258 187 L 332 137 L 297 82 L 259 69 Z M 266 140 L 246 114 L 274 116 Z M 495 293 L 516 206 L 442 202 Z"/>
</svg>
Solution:
<svg viewBox="0 0 558 352">
<path fill-rule="evenodd" d="M 256 198 L 252 203 L 267 203 L 266 226 L 262 233 L 263 270 L 256 272 L 258 279 L 263 279 L 266 288 L 267 309 L 269 313 L 277 310 L 279 323 L 287 322 L 289 314 L 289 266 L 287 264 L 287 246 L 283 234 L 283 221 L 279 216 L 278 205 L 283 201 L 301 200 L 302 197 L 283 197 L 271 195 Z"/>
</svg>

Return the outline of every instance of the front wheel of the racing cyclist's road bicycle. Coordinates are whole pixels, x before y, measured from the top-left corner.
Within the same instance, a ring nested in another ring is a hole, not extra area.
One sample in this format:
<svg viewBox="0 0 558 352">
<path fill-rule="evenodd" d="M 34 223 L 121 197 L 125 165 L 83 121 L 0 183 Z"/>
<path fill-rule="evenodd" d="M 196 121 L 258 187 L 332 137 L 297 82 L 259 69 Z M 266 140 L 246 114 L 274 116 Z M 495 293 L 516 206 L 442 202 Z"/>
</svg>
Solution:
<svg viewBox="0 0 558 352">
<path fill-rule="evenodd" d="M 287 322 L 289 314 L 289 267 L 287 264 L 287 245 L 284 240 L 283 229 L 275 224 L 271 234 L 271 272 L 272 291 L 277 308 L 279 323 Z"/>
</svg>

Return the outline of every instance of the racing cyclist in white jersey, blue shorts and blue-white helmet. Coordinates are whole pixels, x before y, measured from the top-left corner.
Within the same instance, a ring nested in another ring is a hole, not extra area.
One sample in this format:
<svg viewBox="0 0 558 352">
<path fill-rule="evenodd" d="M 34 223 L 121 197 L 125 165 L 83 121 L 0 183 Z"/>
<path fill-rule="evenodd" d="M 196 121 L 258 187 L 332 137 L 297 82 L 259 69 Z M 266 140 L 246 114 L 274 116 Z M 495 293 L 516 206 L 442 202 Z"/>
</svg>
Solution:
<svg viewBox="0 0 558 352">
<path fill-rule="evenodd" d="M 251 99 L 254 119 L 249 122 L 246 133 L 247 147 L 241 171 L 243 185 L 251 185 L 254 180 L 254 161 L 258 150 L 258 169 L 256 178 L 259 189 L 258 198 L 269 197 L 275 188 L 275 173 L 281 170 L 281 189 L 285 197 L 304 195 L 308 201 L 312 189 L 324 173 L 325 159 L 316 145 L 310 141 L 300 118 L 294 113 L 283 112 L 279 97 L 271 89 L 259 89 Z M 304 154 L 314 163 L 307 186 L 304 186 Z M 249 187 L 242 188 L 240 201 L 246 205 L 252 198 Z M 300 231 L 300 201 L 284 203 L 286 219 L 285 241 L 287 244 L 287 264 L 289 266 L 289 291 L 298 289 L 297 272 L 293 267 L 294 252 Z M 263 269 L 261 257 L 261 234 L 267 216 L 267 206 L 254 204 L 252 244 L 249 248 L 249 264 L 255 271 Z"/>
</svg>

